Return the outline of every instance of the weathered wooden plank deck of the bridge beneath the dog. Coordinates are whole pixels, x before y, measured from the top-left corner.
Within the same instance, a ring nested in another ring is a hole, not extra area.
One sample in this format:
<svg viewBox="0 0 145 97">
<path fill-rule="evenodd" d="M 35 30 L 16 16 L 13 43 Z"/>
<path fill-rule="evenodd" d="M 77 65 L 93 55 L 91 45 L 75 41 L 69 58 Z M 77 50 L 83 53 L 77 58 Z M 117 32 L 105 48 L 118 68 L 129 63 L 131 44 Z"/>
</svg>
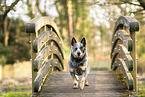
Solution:
<svg viewBox="0 0 145 97">
<path fill-rule="evenodd" d="M 68 72 L 54 72 L 48 76 L 40 94 L 41 97 L 127 97 L 133 95 L 113 71 L 91 71 L 89 86 L 83 90 L 73 89 L 73 81 Z"/>
</svg>

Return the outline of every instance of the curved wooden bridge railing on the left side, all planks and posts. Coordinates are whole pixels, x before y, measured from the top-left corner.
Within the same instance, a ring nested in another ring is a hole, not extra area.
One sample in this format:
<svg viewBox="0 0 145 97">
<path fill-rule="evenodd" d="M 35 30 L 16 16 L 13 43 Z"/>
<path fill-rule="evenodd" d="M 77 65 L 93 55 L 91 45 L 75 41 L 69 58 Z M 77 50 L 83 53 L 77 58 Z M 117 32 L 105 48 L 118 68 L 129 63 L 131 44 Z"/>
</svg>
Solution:
<svg viewBox="0 0 145 97">
<path fill-rule="evenodd" d="M 62 39 L 56 24 L 48 17 L 36 17 L 26 23 L 31 34 L 32 94 L 38 93 L 47 75 L 61 71 L 63 66 Z"/>
</svg>

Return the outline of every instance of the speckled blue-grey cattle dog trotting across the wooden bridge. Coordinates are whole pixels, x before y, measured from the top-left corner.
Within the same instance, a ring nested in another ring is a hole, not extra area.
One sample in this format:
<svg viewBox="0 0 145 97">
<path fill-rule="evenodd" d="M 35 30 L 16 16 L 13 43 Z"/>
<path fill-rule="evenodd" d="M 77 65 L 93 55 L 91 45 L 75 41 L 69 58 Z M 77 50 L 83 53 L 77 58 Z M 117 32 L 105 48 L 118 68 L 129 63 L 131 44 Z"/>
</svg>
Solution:
<svg viewBox="0 0 145 97">
<path fill-rule="evenodd" d="M 89 86 L 87 75 L 89 74 L 89 64 L 86 52 L 86 39 L 83 37 L 81 42 L 77 42 L 73 37 L 71 41 L 71 54 L 69 58 L 69 72 L 74 81 L 74 89 L 83 89 Z M 79 75 L 82 75 L 79 84 Z"/>
</svg>

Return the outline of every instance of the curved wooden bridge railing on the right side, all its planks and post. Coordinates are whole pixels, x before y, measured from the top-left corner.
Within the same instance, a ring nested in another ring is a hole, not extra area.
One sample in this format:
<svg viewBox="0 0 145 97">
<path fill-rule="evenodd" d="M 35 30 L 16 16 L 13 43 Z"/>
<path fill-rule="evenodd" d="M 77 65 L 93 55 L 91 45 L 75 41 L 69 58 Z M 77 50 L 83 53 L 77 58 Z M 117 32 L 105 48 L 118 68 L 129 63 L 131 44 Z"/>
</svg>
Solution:
<svg viewBox="0 0 145 97">
<path fill-rule="evenodd" d="M 121 16 L 112 37 L 111 68 L 119 68 L 129 90 L 137 90 L 136 31 L 139 31 L 139 22 L 132 17 Z"/>
</svg>

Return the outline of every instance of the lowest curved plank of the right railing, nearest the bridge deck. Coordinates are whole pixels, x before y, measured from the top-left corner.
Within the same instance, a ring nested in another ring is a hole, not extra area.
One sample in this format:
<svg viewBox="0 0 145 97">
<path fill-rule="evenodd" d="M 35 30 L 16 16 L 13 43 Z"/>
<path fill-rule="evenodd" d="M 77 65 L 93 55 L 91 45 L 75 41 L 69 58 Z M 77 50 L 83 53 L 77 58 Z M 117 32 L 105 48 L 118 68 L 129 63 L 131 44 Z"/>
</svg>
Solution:
<svg viewBox="0 0 145 97">
<path fill-rule="evenodd" d="M 127 86 L 129 90 L 133 90 L 133 77 L 131 75 L 131 73 L 128 70 L 128 67 L 126 66 L 126 63 L 124 62 L 123 59 L 121 58 L 117 58 L 115 59 L 113 65 L 112 65 L 112 69 L 115 70 L 117 67 L 120 68 L 124 79 L 126 80 Z"/>
</svg>

